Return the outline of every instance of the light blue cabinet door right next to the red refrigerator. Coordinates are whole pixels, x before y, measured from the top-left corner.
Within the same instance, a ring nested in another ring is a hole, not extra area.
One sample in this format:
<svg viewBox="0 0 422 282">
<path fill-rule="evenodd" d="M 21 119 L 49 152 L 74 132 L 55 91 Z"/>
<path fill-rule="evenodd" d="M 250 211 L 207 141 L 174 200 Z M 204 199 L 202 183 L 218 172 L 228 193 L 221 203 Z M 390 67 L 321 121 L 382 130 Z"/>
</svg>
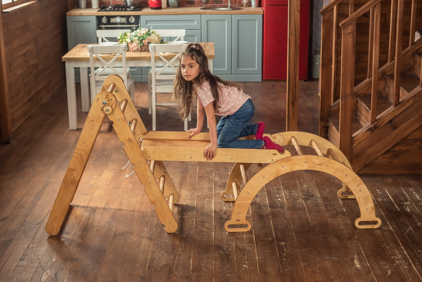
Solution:
<svg viewBox="0 0 422 282">
<path fill-rule="evenodd" d="M 262 74 L 262 15 L 233 15 L 233 74 Z"/>
</svg>

